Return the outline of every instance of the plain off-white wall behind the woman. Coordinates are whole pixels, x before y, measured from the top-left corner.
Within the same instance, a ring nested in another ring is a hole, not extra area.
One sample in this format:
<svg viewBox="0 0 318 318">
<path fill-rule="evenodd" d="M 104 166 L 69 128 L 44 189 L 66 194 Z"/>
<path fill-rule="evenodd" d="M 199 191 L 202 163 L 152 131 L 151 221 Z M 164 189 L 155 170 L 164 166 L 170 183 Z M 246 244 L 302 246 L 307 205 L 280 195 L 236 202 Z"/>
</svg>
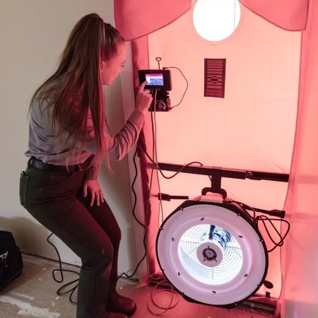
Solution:
<svg viewBox="0 0 318 318">
<path fill-rule="evenodd" d="M 114 25 L 112 0 L 0 0 L 0 230 L 13 232 L 23 252 L 57 259 L 46 242 L 49 232 L 20 206 L 20 171 L 28 141 L 27 111 L 37 86 L 52 73 L 73 25 L 87 13 L 98 13 Z M 129 67 L 129 65 L 128 65 Z M 132 82 L 131 82 L 132 86 Z M 116 132 L 124 123 L 120 78 L 106 90 L 108 121 Z M 127 159 L 113 165 L 110 176 L 102 165 L 100 184 L 122 229 L 119 272 L 136 266 Z M 80 264 L 56 237 L 62 261 Z"/>
</svg>

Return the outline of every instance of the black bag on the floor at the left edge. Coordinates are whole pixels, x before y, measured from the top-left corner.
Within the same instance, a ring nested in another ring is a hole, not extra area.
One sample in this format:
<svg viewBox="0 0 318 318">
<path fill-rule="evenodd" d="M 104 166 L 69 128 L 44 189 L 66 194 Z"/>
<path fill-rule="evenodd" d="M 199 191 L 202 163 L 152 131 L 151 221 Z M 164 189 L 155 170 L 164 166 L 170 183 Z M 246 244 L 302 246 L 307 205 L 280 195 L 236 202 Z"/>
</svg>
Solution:
<svg viewBox="0 0 318 318">
<path fill-rule="evenodd" d="M 0 231 L 0 290 L 20 275 L 23 261 L 11 232 Z"/>
</svg>

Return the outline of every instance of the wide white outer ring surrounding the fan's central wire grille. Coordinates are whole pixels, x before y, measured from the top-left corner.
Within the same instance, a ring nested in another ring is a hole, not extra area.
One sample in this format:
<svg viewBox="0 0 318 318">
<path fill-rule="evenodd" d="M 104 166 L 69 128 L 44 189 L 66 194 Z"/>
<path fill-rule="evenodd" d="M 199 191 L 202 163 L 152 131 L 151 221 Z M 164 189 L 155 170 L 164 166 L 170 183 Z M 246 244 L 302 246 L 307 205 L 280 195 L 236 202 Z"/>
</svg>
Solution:
<svg viewBox="0 0 318 318">
<path fill-rule="evenodd" d="M 187 202 L 165 220 L 158 232 L 157 256 L 167 279 L 185 298 L 209 305 L 232 305 L 254 294 L 264 281 L 268 267 L 268 256 L 259 233 L 240 216 L 242 211 L 238 208 L 235 213 L 216 204 Z M 200 273 L 191 271 L 182 258 L 179 249 L 182 235 L 202 224 L 215 225 L 229 232 L 242 250 L 242 264 L 227 280 L 213 283 L 210 279 L 208 282 Z"/>
</svg>

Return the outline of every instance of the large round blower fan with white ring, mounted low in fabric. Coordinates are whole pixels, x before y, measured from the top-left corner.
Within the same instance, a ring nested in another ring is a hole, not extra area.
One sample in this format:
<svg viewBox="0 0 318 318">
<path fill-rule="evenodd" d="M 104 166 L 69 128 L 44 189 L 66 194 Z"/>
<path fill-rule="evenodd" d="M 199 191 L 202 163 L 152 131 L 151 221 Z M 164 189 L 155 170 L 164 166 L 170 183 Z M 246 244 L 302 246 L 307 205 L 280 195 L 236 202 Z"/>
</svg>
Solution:
<svg viewBox="0 0 318 318">
<path fill-rule="evenodd" d="M 160 227 L 160 269 L 190 302 L 235 307 L 261 287 L 268 252 L 245 208 L 230 201 L 184 201 Z"/>
</svg>

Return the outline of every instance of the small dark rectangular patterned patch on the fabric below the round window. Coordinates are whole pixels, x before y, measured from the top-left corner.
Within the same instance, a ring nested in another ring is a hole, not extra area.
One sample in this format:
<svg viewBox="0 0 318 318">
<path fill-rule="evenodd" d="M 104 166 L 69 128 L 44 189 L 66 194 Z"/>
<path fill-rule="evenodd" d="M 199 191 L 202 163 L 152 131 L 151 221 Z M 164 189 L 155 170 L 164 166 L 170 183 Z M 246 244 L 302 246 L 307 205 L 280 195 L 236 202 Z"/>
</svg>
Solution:
<svg viewBox="0 0 318 318">
<path fill-rule="evenodd" d="M 204 59 L 204 96 L 224 98 L 226 59 Z"/>
</svg>

